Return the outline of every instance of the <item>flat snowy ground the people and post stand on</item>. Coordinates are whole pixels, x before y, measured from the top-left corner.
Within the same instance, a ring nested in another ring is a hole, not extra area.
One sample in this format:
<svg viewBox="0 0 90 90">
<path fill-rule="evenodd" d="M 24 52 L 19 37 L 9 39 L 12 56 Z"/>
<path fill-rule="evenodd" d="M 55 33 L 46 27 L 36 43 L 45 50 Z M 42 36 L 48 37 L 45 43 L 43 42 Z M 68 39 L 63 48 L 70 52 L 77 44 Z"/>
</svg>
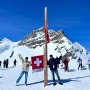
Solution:
<svg viewBox="0 0 90 90">
<path fill-rule="evenodd" d="M 59 68 L 59 75 L 64 83 L 63 85 L 52 85 L 51 72 L 48 69 L 48 86 L 44 87 L 43 71 L 32 73 L 30 67 L 28 76 L 28 85 L 24 85 L 24 76 L 16 86 L 21 67 L 0 68 L 0 90 L 90 90 L 90 71 L 87 65 L 84 70 L 77 70 L 76 61 L 72 60 L 69 63 L 70 72 L 64 72 L 63 68 Z"/>
</svg>

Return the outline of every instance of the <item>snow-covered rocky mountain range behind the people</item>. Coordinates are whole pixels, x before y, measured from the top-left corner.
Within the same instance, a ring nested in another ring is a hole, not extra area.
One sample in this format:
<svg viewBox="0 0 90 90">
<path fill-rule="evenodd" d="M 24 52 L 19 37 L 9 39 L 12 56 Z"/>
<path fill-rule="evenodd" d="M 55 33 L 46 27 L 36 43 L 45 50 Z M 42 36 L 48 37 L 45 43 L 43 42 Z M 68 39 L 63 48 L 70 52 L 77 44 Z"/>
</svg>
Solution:
<svg viewBox="0 0 90 90">
<path fill-rule="evenodd" d="M 50 36 L 50 43 L 48 43 L 48 54 L 54 54 L 54 56 L 62 54 L 63 58 L 69 57 L 70 59 L 76 59 L 79 56 L 90 56 L 90 53 L 78 42 L 72 43 L 66 37 L 63 30 L 59 30 L 58 32 L 48 30 L 48 34 Z M 41 54 L 43 53 L 44 40 L 45 36 L 43 28 L 32 31 L 24 39 L 18 42 L 13 42 L 7 38 L 4 38 L 0 41 L 0 56 L 3 59 L 6 58 L 6 56 L 9 58 L 12 52 L 14 52 L 15 55 L 18 53 L 27 52 L 29 53 L 29 57 L 34 54 L 36 55 L 36 52 Z"/>
</svg>

